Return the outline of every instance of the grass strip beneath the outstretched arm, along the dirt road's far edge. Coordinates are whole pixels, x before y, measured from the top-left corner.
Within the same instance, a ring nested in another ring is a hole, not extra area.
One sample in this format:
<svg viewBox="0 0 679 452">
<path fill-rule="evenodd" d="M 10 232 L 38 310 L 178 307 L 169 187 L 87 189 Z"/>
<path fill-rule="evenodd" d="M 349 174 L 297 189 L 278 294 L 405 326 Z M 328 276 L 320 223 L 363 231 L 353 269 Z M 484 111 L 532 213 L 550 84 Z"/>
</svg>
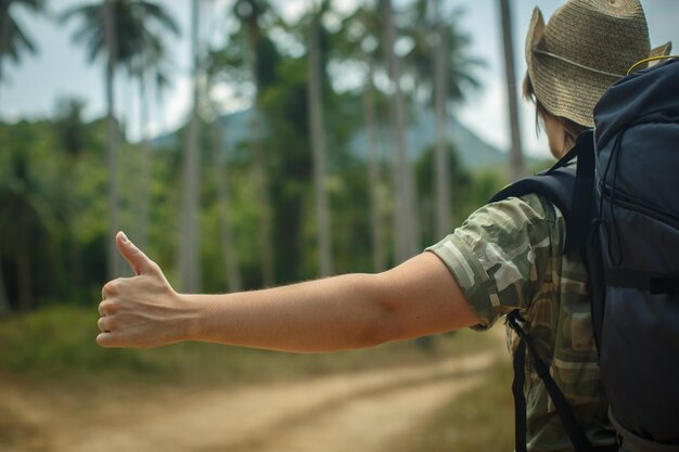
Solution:
<svg viewBox="0 0 679 452">
<path fill-rule="evenodd" d="M 293 379 L 445 359 L 487 348 L 486 335 L 459 332 L 328 354 L 293 354 L 184 343 L 151 350 L 97 346 L 95 310 L 53 307 L 0 321 L 0 373 L 33 379 L 140 383 L 252 383 Z"/>
</svg>

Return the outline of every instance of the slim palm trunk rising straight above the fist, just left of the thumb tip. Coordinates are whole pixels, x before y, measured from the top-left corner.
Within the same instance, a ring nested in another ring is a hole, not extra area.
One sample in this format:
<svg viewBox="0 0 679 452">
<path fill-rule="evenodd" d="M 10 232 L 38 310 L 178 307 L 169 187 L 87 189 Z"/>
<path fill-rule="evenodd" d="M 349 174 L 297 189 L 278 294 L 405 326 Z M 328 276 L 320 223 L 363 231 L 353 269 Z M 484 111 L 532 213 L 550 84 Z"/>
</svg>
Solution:
<svg viewBox="0 0 679 452">
<path fill-rule="evenodd" d="M 118 130 L 115 118 L 115 63 L 117 59 L 117 37 L 115 4 L 106 0 L 104 11 L 104 35 L 108 61 L 106 64 L 106 166 L 108 168 L 108 236 L 106 237 L 106 275 L 113 280 L 118 274 L 118 250 L 115 234 L 118 231 Z"/>
</svg>

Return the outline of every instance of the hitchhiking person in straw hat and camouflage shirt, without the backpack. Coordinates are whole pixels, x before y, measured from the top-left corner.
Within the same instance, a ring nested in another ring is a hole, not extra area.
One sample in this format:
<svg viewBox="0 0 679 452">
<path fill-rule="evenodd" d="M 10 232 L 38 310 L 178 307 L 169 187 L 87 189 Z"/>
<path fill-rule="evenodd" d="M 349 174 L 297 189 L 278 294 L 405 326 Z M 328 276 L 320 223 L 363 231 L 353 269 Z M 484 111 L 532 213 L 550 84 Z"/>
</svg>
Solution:
<svg viewBox="0 0 679 452">
<path fill-rule="evenodd" d="M 651 53 L 638 0 L 571 0 L 547 25 L 535 10 L 525 90 L 556 157 L 593 126 L 592 109 L 605 88 Z M 487 330 L 520 309 L 524 330 L 589 441 L 607 450 L 615 443 L 599 378 L 587 272 L 578 255 L 563 253 L 562 214 L 537 194 L 482 207 L 440 243 L 383 273 L 247 293 L 178 294 L 125 234 L 116 241 L 137 276 L 108 282 L 102 290 L 97 340 L 103 347 L 204 340 L 325 352 L 461 327 Z M 529 366 L 526 374 L 528 450 L 572 450 L 543 384 Z"/>
</svg>

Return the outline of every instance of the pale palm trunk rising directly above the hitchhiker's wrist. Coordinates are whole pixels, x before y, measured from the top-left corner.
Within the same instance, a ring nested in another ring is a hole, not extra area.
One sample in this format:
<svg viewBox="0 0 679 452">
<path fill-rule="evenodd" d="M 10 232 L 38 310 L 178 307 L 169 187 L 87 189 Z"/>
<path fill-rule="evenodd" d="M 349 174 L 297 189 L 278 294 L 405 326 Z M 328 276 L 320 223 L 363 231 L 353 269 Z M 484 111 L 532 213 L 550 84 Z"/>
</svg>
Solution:
<svg viewBox="0 0 679 452">
<path fill-rule="evenodd" d="M 187 131 L 183 164 L 183 201 L 179 241 L 179 276 L 181 289 L 200 292 L 198 261 L 198 27 L 200 0 L 192 1 L 193 106 Z"/>
</svg>

